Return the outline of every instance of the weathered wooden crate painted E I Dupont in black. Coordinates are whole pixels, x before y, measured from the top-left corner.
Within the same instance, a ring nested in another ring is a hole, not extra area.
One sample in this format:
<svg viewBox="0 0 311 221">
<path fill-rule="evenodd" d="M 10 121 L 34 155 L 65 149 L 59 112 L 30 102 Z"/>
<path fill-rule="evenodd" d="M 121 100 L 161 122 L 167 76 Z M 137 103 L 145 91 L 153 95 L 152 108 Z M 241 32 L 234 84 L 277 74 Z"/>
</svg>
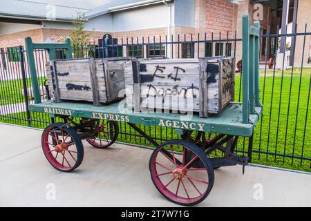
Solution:
<svg viewBox="0 0 311 221">
<path fill-rule="evenodd" d="M 133 59 L 125 66 L 126 106 L 220 115 L 234 100 L 234 81 L 232 58 Z"/>
</svg>

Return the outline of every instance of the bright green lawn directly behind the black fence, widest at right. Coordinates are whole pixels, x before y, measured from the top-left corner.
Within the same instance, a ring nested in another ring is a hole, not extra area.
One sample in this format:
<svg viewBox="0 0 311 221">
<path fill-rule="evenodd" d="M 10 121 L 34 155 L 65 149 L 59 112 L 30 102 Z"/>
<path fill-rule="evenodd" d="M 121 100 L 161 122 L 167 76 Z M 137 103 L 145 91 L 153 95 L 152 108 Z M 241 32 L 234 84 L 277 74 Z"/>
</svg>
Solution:
<svg viewBox="0 0 311 221">
<path fill-rule="evenodd" d="M 263 71 L 261 72 L 261 102 L 263 102 L 264 108 L 260 124 L 258 124 L 255 129 L 254 150 L 269 152 L 271 154 L 254 153 L 253 163 L 310 171 L 310 160 L 292 160 L 290 157 L 277 155 L 285 153 L 286 155 L 293 155 L 295 157 L 303 156 L 311 158 L 310 104 L 307 107 L 311 68 L 303 68 L 301 77 L 300 75 L 299 68 L 294 68 L 293 74 L 292 70 L 285 70 L 283 72 L 283 77 L 282 71 L 273 73 L 272 70 L 268 70 L 266 74 Z M 239 100 L 240 81 L 241 77 L 237 75 L 236 102 Z M 263 86 L 265 86 L 264 96 Z M 300 98 L 298 99 L 299 95 Z M 308 118 L 305 120 L 307 110 Z M 10 117 L 18 117 L 18 115 L 20 117 L 25 117 L 26 113 L 14 114 L 10 115 Z M 48 121 L 48 117 L 41 113 L 32 113 L 32 119 Z M 0 117 L 0 122 L 20 125 L 26 125 L 27 123 L 26 121 L 6 119 L 3 117 Z M 40 124 L 39 122 L 32 122 L 32 126 L 44 128 L 46 125 Z M 124 133 L 134 133 L 134 130 L 124 123 L 120 124 L 120 128 Z M 144 127 L 142 126 L 142 128 Z M 146 127 L 146 133 L 152 137 L 156 136 L 158 139 L 162 137 L 164 140 L 166 137 L 171 137 L 173 130 L 171 128 Z M 305 136 L 303 136 L 304 134 Z M 173 137 L 176 138 L 177 135 L 173 135 Z M 303 139 L 303 137 L 305 137 L 305 139 Z M 149 142 L 146 142 L 142 137 L 135 137 L 133 135 L 120 134 L 119 141 L 145 146 L 150 145 Z M 158 140 L 158 142 L 160 142 L 160 140 Z M 247 144 L 248 140 L 241 138 L 238 142 L 238 149 L 247 151 Z"/>
</svg>

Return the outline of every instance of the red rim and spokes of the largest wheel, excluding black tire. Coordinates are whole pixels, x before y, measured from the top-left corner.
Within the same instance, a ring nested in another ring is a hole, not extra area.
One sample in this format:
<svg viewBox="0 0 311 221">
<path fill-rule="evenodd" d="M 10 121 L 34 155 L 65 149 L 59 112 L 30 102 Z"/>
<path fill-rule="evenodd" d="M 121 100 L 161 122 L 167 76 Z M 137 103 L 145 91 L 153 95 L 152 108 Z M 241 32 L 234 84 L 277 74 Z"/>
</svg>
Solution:
<svg viewBox="0 0 311 221">
<path fill-rule="evenodd" d="M 174 202 L 194 204 L 208 191 L 207 169 L 189 148 L 182 146 L 180 154 L 174 153 L 177 148 L 176 145 L 167 148 L 172 157 L 164 154 L 166 147 L 158 150 L 151 161 L 151 176 L 158 189 Z M 194 164 L 197 166 L 194 167 Z"/>
</svg>

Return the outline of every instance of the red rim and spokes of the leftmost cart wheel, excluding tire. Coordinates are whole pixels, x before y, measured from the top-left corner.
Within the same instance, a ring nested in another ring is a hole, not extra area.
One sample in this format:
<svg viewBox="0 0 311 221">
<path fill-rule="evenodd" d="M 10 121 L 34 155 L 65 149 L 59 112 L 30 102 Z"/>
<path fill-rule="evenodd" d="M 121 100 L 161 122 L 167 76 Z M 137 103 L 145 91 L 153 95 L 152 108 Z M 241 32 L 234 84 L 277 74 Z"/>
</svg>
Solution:
<svg viewBox="0 0 311 221">
<path fill-rule="evenodd" d="M 69 171 L 77 163 L 77 146 L 64 128 L 47 128 L 44 131 L 42 147 L 50 164 L 57 169 Z"/>
</svg>

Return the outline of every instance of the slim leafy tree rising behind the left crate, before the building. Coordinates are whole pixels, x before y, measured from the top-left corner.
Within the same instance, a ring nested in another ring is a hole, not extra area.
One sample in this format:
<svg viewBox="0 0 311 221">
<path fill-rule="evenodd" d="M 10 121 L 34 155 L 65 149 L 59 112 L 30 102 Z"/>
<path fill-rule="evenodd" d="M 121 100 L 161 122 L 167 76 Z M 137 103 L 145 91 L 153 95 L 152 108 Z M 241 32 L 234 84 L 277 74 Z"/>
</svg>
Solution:
<svg viewBox="0 0 311 221">
<path fill-rule="evenodd" d="M 84 31 L 84 23 L 86 23 L 85 13 L 77 12 L 69 35 L 75 58 L 84 57 L 85 52 L 82 48 L 90 41 L 90 35 Z"/>
</svg>

